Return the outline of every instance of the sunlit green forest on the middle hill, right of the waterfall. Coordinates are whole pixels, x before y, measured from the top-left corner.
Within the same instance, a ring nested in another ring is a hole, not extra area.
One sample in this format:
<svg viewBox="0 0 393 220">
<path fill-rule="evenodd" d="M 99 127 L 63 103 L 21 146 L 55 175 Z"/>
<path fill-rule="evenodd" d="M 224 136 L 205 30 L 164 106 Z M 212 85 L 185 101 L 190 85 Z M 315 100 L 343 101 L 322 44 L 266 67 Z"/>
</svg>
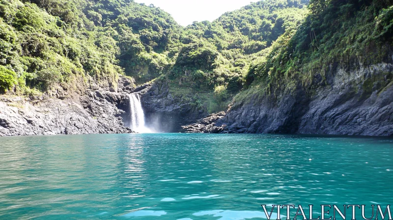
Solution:
<svg viewBox="0 0 393 220">
<path fill-rule="evenodd" d="M 225 13 L 214 22 L 185 27 L 180 50 L 169 71 L 171 86 L 186 87 L 190 94 L 204 94 L 201 103 L 209 112 L 225 110 L 247 88 L 250 66 L 271 51 L 286 31 L 295 30 L 307 14 L 308 0 L 264 0 Z"/>
</svg>

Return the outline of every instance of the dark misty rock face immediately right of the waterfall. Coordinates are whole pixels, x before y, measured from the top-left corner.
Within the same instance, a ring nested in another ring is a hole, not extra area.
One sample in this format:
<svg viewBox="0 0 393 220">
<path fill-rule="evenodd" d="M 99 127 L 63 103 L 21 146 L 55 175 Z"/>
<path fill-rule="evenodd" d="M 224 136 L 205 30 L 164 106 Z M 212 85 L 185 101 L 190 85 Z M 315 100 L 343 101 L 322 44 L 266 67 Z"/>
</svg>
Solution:
<svg viewBox="0 0 393 220">
<path fill-rule="evenodd" d="M 207 110 L 182 103 L 169 92 L 168 84 L 157 82 L 141 92 L 145 122 L 157 132 L 180 132 L 181 126 L 207 116 Z"/>
</svg>

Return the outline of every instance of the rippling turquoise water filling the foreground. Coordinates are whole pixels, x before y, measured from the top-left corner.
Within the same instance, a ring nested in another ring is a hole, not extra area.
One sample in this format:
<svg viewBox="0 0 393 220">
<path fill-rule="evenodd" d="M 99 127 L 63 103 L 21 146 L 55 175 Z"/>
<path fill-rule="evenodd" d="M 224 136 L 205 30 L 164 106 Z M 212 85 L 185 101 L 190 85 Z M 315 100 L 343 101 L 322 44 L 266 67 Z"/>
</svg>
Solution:
<svg viewBox="0 0 393 220">
<path fill-rule="evenodd" d="M 387 138 L 0 138 L 0 219 L 245 220 L 265 217 L 261 204 L 386 205 L 392 160 Z"/>
</svg>

